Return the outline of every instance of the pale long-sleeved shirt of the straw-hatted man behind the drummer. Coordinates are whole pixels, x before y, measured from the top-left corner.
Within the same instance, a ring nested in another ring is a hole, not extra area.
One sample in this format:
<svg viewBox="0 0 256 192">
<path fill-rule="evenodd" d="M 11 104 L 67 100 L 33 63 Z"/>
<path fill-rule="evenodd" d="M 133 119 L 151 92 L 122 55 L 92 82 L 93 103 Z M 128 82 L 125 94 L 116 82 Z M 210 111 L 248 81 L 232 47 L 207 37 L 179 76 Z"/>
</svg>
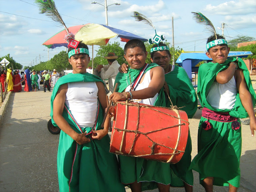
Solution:
<svg viewBox="0 0 256 192">
<path fill-rule="evenodd" d="M 103 65 L 103 68 L 100 70 L 100 76 L 102 79 L 108 78 L 108 86 L 109 91 L 113 93 L 114 91 L 114 83 L 116 80 L 117 73 L 119 73 L 118 68 L 120 65 L 118 64 L 117 60 L 114 61 L 111 65 Z"/>
</svg>

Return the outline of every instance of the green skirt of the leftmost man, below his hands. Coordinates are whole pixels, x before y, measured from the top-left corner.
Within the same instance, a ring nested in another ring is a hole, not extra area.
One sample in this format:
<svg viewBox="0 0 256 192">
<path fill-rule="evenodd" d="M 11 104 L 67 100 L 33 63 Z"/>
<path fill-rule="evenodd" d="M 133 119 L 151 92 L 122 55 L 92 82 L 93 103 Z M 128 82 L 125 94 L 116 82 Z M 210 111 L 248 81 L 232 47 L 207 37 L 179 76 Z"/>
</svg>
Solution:
<svg viewBox="0 0 256 192">
<path fill-rule="evenodd" d="M 109 153 L 109 142 L 106 135 L 79 145 L 61 131 L 57 157 L 60 192 L 125 192 L 117 157 Z"/>
</svg>

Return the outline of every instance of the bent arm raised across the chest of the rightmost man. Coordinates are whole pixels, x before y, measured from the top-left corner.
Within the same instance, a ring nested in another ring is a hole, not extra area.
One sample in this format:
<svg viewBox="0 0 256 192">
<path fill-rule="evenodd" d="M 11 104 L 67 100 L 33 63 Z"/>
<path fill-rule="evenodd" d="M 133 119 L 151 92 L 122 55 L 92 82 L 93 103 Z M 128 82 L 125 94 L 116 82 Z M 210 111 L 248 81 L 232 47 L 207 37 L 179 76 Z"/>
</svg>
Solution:
<svg viewBox="0 0 256 192">
<path fill-rule="evenodd" d="M 234 76 L 236 65 L 234 62 L 229 64 L 229 67 L 224 71 L 221 71 L 216 76 L 216 81 L 219 84 L 225 84 L 230 81 L 230 79 Z"/>
</svg>

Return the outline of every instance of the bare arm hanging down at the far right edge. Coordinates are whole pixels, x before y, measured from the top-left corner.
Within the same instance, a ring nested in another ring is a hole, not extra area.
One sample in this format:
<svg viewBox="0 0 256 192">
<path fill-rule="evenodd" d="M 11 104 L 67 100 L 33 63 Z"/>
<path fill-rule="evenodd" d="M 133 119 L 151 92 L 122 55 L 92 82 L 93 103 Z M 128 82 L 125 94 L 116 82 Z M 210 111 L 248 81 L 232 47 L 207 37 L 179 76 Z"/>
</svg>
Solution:
<svg viewBox="0 0 256 192">
<path fill-rule="evenodd" d="M 252 137 L 254 136 L 254 130 L 256 131 L 256 117 L 254 115 L 253 103 L 251 93 L 247 89 L 243 70 L 237 69 L 235 71 L 236 87 L 239 92 L 242 105 L 250 117 L 250 129 Z"/>
</svg>

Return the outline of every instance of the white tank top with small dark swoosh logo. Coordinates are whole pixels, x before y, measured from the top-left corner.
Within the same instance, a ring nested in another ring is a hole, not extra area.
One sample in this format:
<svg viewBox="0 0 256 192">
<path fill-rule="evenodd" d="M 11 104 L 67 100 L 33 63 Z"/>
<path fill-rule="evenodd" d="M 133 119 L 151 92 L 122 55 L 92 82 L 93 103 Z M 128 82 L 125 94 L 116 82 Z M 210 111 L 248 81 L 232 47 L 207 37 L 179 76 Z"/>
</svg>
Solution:
<svg viewBox="0 0 256 192">
<path fill-rule="evenodd" d="M 98 87 L 95 82 L 68 83 L 65 104 L 79 126 L 94 126 L 97 102 Z"/>
</svg>

